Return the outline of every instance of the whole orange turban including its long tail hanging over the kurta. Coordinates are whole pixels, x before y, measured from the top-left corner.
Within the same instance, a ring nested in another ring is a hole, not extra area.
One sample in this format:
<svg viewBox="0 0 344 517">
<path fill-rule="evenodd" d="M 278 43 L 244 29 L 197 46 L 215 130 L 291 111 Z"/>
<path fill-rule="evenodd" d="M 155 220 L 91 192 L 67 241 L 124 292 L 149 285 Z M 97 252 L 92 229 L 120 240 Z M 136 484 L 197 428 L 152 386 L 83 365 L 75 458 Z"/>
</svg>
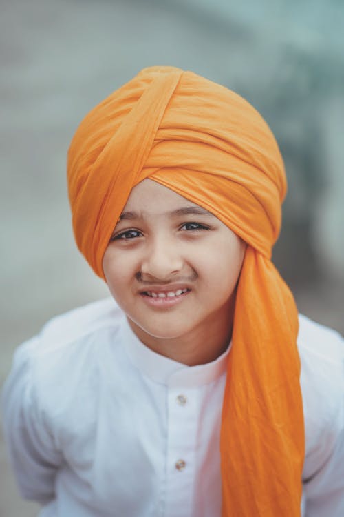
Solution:
<svg viewBox="0 0 344 517">
<path fill-rule="evenodd" d="M 146 68 L 97 105 L 70 145 L 68 184 L 76 243 L 102 278 L 116 222 L 147 177 L 248 243 L 222 410 L 223 516 L 300 516 L 297 307 L 270 261 L 286 194 L 275 138 L 239 95 L 178 68 Z"/>
</svg>

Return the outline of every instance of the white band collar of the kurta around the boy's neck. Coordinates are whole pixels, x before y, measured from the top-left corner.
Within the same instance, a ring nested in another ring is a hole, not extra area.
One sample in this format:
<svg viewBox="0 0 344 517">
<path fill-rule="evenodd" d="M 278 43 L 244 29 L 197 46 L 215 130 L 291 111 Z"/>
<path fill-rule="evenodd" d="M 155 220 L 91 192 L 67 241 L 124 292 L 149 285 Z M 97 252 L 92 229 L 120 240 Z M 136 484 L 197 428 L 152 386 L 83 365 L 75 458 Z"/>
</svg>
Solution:
<svg viewBox="0 0 344 517">
<path fill-rule="evenodd" d="M 155 383 L 169 387 L 193 388 L 212 383 L 226 372 L 231 344 L 215 361 L 205 365 L 188 366 L 153 352 L 133 333 L 127 318 L 124 320 L 121 341 L 127 356 L 142 374 Z"/>
</svg>

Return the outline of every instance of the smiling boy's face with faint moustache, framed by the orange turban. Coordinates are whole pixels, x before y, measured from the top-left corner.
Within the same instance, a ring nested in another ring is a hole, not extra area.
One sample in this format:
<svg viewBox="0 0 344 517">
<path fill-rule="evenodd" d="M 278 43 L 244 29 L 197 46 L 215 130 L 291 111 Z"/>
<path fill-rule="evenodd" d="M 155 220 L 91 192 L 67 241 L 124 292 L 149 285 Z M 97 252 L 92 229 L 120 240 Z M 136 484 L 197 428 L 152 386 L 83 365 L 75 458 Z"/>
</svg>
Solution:
<svg viewBox="0 0 344 517">
<path fill-rule="evenodd" d="M 145 179 L 131 191 L 103 270 L 144 343 L 187 340 L 231 325 L 245 247 L 213 214 Z"/>
</svg>

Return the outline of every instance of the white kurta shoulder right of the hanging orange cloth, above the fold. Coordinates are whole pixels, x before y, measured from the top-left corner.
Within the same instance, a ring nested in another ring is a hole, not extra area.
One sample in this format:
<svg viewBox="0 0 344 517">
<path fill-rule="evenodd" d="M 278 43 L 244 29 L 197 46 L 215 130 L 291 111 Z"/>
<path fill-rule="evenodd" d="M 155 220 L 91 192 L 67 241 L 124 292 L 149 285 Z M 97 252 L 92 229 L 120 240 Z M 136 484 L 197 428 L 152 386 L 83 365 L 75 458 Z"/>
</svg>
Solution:
<svg viewBox="0 0 344 517">
<path fill-rule="evenodd" d="M 308 477 L 323 465 L 343 432 L 344 340 L 305 316 L 299 316 L 299 323 Z"/>
</svg>

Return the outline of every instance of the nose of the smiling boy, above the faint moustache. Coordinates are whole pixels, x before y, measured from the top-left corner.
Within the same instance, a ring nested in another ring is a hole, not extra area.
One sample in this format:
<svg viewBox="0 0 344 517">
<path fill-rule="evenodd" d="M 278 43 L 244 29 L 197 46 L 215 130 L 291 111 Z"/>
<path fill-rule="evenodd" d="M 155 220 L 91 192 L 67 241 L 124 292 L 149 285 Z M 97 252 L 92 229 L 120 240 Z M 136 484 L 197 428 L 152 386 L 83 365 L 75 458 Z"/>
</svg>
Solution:
<svg viewBox="0 0 344 517">
<path fill-rule="evenodd" d="M 178 247 L 166 241 L 157 242 L 147 250 L 147 255 L 141 264 L 141 273 L 143 277 L 166 280 L 180 272 L 183 263 Z"/>
</svg>

